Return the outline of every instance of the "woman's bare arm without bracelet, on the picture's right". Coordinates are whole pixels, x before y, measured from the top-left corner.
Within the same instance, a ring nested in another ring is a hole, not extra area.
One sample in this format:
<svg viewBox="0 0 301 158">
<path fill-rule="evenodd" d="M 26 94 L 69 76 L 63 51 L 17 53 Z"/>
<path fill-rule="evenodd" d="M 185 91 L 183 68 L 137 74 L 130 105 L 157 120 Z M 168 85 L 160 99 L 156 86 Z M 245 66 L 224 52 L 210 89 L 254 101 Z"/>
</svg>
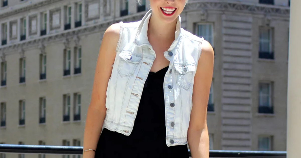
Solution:
<svg viewBox="0 0 301 158">
<path fill-rule="evenodd" d="M 207 104 L 213 75 L 214 53 L 207 41 L 201 44 L 202 54 L 194 76 L 192 110 L 188 128 L 188 145 L 192 158 L 209 158 Z"/>
</svg>

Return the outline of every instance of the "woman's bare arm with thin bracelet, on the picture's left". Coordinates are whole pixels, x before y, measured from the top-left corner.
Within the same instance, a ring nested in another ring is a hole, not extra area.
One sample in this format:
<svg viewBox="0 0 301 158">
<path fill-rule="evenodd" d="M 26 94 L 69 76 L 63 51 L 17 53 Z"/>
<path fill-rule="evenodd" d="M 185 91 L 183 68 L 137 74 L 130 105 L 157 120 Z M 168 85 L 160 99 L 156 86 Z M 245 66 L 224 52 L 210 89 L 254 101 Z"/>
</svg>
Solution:
<svg viewBox="0 0 301 158">
<path fill-rule="evenodd" d="M 85 122 L 83 148 L 96 150 L 106 116 L 106 91 L 116 57 L 120 24 L 111 25 L 104 33 L 96 63 L 91 101 Z M 87 151 L 83 158 L 94 158 L 94 151 Z"/>
</svg>

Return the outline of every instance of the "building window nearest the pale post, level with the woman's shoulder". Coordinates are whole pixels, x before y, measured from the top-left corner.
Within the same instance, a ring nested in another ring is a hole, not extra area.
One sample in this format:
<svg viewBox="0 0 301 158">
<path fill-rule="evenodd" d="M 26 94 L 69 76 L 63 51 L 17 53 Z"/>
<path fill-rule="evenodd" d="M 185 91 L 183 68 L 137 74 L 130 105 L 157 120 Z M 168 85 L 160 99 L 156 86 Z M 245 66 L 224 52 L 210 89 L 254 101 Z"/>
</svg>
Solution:
<svg viewBox="0 0 301 158">
<path fill-rule="evenodd" d="M 273 52 L 273 29 L 268 27 L 259 28 L 259 58 L 274 59 Z"/>
</svg>

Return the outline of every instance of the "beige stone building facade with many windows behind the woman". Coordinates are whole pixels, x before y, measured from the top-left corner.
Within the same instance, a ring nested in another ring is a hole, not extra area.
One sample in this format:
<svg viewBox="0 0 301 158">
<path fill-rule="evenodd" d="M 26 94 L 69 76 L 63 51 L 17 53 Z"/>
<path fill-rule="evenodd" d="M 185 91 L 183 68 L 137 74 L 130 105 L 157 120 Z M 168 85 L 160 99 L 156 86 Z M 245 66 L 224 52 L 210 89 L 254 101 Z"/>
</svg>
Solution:
<svg viewBox="0 0 301 158">
<path fill-rule="evenodd" d="M 149 1 L 0 2 L 0 143 L 82 146 L 104 31 L 142 19 Z M 215 51 L 210 149 L 286 150 L 289 5 L 190 0 L 181 14 Z"/>
</svg>

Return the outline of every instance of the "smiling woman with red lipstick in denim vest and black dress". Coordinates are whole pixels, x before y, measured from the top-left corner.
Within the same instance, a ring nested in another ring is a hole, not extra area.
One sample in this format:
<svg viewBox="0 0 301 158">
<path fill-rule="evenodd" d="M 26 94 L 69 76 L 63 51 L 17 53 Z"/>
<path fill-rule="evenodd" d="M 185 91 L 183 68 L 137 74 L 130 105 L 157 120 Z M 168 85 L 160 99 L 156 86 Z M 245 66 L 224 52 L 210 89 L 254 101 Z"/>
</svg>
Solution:
<svg viewBox="0 0 301 158">
<path fill-rule="evenodd" d="M 150 0 L 141 21 L 105 31 L 83 158 L 184 158 L 187 143 L 193 158 L 209 157 L 213 48 L 181 28 L 186 2 Z"/>
</svg>

